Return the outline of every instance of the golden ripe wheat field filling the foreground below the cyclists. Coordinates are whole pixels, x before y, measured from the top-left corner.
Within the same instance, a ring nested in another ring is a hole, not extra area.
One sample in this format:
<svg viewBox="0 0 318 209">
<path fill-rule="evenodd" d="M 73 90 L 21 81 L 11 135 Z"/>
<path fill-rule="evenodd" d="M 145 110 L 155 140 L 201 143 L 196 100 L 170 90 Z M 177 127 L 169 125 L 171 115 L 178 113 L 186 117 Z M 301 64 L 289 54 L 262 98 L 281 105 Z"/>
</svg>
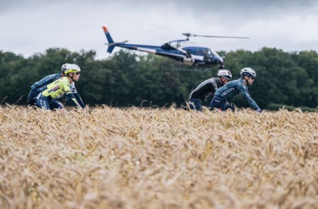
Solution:
<svg viewBox="0 0 318 209">
<path fill-rule="evenodd" d="M 318 113 L 0 108 L 0 208 L 316 208 Z"/>
</svg>

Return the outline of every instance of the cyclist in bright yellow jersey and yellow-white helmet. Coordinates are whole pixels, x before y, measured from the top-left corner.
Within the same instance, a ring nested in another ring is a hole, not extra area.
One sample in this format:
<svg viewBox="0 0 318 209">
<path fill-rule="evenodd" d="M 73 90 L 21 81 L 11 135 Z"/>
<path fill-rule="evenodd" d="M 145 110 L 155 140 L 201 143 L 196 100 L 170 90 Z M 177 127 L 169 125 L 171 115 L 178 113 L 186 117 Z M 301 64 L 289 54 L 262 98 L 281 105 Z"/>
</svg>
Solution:
<svg viewBox="0 0 318 209">
<path fill-rule="evenodd" d="M 47 110 L 62 109 L 64 106 L 57 99 L 65 95 L 74 107 L 80 108 L 80 104 L 70 89 L 70 84 L 79 80 L 80 71 L 81 68 L 76 64 L 69 64 L 64 72 L 66 77 L 62 77 L 47 85 L 47 88 L 37 96 L 36 106 Z"/>
</svg>

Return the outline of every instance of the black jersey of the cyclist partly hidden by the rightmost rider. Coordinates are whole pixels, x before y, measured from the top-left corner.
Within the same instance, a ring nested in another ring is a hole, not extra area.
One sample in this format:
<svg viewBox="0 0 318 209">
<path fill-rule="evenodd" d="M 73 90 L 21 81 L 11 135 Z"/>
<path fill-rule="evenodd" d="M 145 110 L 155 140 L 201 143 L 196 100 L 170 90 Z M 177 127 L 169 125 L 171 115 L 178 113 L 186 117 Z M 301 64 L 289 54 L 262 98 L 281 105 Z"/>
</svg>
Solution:
<svg viewBox="0 0 318 209">
<path fill-rule="evenodd" d="M 218 88 L 222 86 L 222 83 L 218 78 L 210 78 L 203 81 L 199 86 L 191 91 L 189 100 L 199 99 L 204 101 L 207 97 L 212 95 Z"/>
</svg>

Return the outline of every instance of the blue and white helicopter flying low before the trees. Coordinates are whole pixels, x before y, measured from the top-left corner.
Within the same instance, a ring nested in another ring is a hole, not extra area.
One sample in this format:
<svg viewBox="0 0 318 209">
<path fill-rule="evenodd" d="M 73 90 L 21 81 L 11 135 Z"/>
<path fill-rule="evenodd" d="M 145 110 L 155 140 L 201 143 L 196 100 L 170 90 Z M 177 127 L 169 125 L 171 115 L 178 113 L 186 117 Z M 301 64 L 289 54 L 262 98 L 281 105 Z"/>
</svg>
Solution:
<svg viewBox="0 0 318 209">
<path fill-rule="evenodd" d="M 128 44 L 128 40 L 122 42 L 114 42 L 111 34 L 106 25 L 102 26 L 106 35 L 108 43 L 107 52 L 112 53 L 115 46 L 148 52 L 150 54 L 157 54 L 175 59 L 182 64 L 188 66 L 201 66 L 210 67 L 219 65 L 220 69 L 224 68 L 223 58 L 215 52 L 213 49 L 207 47 L 201 47 L 198 43 L 189 40 L 189 37 L 210 37 L 210 38 L 241 38 L 248 39 L 249 37 L 238 36 L 209 36 L 209 35 L 197 35 L 191 33 L 182 33 L 187 38 L 184 40 L 174 40 L 164 43 L 161 46 L 140 45 L 140 44 Z M 127 44 L 126 44 L 127 43 Z"/>
</svg>

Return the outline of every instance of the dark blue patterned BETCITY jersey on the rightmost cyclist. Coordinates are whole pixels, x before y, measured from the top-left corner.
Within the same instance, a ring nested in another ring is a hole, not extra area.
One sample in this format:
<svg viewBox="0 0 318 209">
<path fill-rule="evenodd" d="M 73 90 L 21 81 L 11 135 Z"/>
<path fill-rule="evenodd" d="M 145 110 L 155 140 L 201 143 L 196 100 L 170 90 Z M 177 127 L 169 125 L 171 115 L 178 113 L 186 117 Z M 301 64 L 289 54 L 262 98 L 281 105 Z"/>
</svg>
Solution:
<svg viewBox="0 0 318 209">
<path fill-rule="evenodd" d="M 248 93 L 248 88 L 247 86 L 244 86 L 243 79 L 240 78 L 235 81 L 230 81 L 227 83 L 225 86 L 221 87 L 218 89 L 214 95 L 215 97 L 222 98 L 224 100 L 231 99 L 234 96 L 238 94 L 242 94 L 242 96 L 245 98 L 247 103 L 254 109 L 254 110 L 259 110 L 258 105 L 256 102 L 251 98 L 251 96 Z"/>
</svg>

